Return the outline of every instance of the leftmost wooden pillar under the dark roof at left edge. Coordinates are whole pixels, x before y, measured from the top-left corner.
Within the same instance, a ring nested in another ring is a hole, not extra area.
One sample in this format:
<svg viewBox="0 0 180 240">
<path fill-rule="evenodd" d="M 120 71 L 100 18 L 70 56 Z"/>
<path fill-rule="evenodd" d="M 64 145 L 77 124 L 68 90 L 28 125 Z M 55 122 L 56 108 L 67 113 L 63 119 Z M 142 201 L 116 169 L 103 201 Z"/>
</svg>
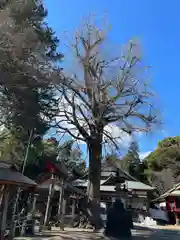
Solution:
<svg viewBox="0 0 180 240">
<path fill-rule="evenodd" d="M 4 240 L 4 233 L 6 230 L 6 219 L 7 219 L 7 210 L 8 210 L 8 202 L 9 202 L 9 187 L 7 187 L 4 191 L 3 197 L 3 208 L 2 208 L 2 218 L 1 218 L 1 229 L 0 229 L 0 239 Z"/>
</svg>

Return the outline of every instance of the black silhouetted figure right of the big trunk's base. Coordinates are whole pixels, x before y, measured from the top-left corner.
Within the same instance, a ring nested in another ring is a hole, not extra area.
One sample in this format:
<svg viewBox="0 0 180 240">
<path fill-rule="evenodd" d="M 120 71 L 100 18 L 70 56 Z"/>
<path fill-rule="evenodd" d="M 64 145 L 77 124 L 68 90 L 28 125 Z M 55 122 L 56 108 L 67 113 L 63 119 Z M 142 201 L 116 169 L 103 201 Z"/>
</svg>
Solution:
<svg viewBox="0 0 180 240">
<path fill-rule="evenodd" d="M 105 236 L 117 239 L 130 239 L 133 222 L 121 200 L 116 200 L 107 214 Z"/>
</svg>

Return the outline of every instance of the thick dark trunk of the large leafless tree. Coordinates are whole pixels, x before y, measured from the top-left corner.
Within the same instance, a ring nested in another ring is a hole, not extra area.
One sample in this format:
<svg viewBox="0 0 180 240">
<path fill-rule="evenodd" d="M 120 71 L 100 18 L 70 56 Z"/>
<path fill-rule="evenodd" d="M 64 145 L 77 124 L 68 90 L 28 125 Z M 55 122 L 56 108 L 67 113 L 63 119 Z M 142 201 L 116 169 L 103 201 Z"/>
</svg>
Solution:
<svg viewBox="0 0 180 240">
<path fill-rule="evenodd" d="M 102 139 L 96 138 L 89 144 L 89 185 L 87 189 L 91 222 L 100 229 L 100 179 L 101 179 Z"/>
</svg>

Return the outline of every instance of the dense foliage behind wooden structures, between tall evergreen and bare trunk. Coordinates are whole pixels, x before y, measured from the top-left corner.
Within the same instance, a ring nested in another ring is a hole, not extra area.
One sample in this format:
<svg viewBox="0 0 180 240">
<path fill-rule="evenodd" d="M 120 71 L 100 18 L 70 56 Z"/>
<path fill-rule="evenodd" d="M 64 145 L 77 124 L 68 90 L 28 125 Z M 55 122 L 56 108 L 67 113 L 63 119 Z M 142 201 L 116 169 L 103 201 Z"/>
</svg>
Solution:
<svg viewBox="0 0 180 240">
<path fill-rule="evenodd" d="M 25 174 L 37 180 L 46 173 L 47 161 L 65 163 L 69 176 L 82 176 L 86 171 L 81 151 L 73 146 L 72 141 L 59 143 L 55 138 L 42 140 L 38 147 L 37 144 L 31 146 L 28 160 Z"/>
</svg>

